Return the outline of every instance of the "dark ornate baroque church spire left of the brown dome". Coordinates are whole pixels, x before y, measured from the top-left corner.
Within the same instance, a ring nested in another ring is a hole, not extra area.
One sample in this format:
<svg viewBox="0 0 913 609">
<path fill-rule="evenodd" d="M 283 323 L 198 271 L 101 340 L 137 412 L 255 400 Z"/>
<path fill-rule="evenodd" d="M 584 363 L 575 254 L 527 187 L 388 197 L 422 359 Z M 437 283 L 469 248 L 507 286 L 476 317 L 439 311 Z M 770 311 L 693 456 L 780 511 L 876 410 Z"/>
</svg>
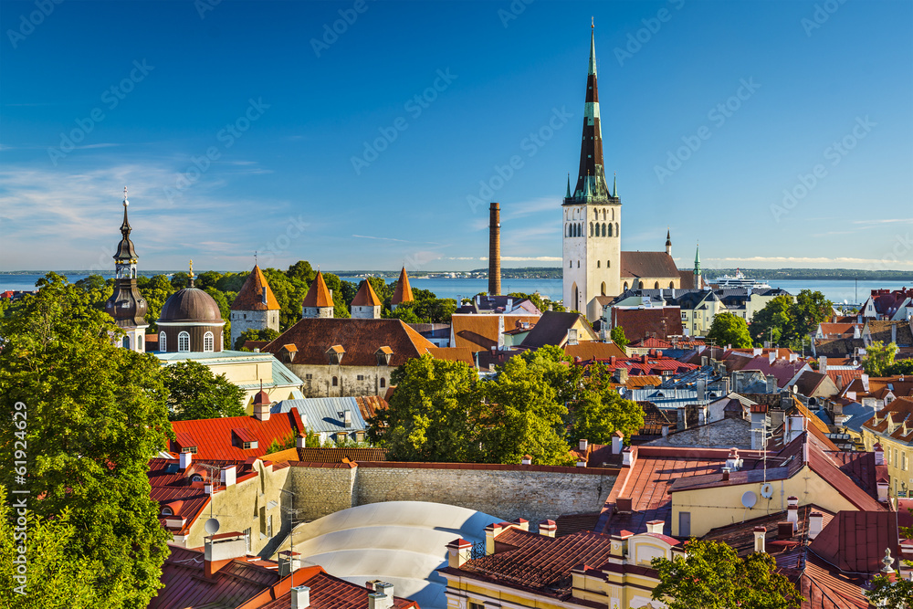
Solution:
<svg viewBox="0 0 913 609">
<path fill-rule="evenodd" d="M 121 243 L 114 253 L 114 293 L 105 302 L 105 310 L 114 318 L 114 323 L 123 331 L 121 346 L 135 352 L 145 352 L 143 339 L 146 336 L 146 299 L 142 298 L 136 287 L 136 250 L 130 240 L 131 226 L 127 221 L 127 189 L 123 189 L 123 223 L 121 224 Z"/>
</svg>

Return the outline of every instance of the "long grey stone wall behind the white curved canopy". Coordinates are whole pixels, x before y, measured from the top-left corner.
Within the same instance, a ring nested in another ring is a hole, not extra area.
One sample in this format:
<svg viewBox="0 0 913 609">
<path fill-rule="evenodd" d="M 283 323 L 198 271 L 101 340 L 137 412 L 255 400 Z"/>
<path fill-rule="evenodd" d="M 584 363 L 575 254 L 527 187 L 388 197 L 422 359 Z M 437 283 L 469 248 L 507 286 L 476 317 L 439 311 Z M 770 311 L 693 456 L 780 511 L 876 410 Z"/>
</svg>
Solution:
<svg viewBox="0 0 913 609">
<path fill-rule="evenodd" d="M 431 501 L 536 522 L 599 511 L 618 474 L 610 468 L 448 463 L 310 465 L 297 464 L 289 475 L 296 508 L 306 506 L 309 520 L 368 503 Z"/>
</svg>

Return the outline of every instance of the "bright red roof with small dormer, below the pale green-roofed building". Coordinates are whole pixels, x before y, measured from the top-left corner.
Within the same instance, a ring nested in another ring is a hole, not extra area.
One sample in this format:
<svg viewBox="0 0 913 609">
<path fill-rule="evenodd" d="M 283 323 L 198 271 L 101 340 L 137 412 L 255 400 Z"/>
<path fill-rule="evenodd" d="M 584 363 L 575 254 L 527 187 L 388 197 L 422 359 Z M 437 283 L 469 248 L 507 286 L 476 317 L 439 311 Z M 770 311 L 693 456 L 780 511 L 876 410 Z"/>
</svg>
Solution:
<svg viewBox="0 0 913 609">
<path fill-rule="evenodd" d="M 194 458 L 241 460 L 262 457 L 267 453 L 273 440 L 282 442 L 289 436 L 297 436 L 299 432 L 304 431 L 297 408 L 288 413 L 273 413 L 269 415 L 268 421 L 260 421 L 256 416 L 229 416 L 197 421 L 174 421 L 172 428 L 175 436 L 181 438 L 172 442 L 172 452 L 180 452 L 184 442 L 193 442 L 197 446 Z M 257 447 L 244 448 L 238 440 L 256 440 Z"/>
</svg>

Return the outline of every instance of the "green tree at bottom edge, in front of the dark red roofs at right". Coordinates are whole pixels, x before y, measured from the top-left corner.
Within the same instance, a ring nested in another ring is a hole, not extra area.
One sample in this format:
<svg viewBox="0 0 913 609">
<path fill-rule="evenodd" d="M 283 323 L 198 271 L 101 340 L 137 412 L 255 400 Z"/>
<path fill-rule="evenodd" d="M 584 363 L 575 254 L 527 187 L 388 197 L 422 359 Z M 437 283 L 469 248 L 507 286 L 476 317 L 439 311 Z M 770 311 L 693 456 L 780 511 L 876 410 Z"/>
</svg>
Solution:
<svg viewBox="0 0 913 609">
<path fill-rule="evenodd" d="M 741 559 L 725 543 L 696 539 L 685 549 L 685 557 L 651 561 L 660 580 L 653 598 L 669 609 L 793 609 L 804 601 L 770 554 Z"/>
</svg>

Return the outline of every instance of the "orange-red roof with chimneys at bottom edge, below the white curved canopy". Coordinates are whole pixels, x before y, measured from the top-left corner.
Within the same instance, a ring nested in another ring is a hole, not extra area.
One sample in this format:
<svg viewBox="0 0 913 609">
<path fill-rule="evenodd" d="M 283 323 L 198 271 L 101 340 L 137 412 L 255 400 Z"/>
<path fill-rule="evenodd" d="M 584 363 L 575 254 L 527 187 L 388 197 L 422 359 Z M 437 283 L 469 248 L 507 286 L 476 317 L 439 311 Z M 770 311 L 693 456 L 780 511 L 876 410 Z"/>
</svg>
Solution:
<svg viewBox="0 0 913 609">
<path fill-rule="evenodd" d="M 310 609 L 368 609 L 368 594 L 372 593 L 367 587 L 323 571 L 320 566 L 304 567 L 241 604 L 238 609 L 289 609 L 292 586 L 310 588 Z M 418 609 L 415 601 L 399 597 L 394 597 L 393 606 L 394 609 Z"/>
</svg>

